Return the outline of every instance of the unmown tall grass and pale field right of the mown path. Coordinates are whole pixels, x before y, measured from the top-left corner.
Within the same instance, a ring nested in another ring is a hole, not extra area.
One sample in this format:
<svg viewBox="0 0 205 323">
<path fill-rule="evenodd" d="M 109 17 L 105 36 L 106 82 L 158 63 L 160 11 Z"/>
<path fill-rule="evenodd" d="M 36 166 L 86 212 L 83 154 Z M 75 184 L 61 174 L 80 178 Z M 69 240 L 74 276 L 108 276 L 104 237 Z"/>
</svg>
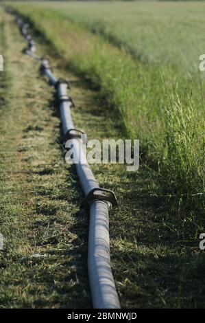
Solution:
<svg viewBox="0 0 205 323">
<path fill-rule="evenodd" d="M 203 209 L 204 82 L 196 64 L 205 5 L 180 3 L 182 14 L 170 3 L 149 3 L 152 9 L 138 2 L 12 5 L 100 87 L 108 109 L 120 113 L 124 135 L 141 140 L 142 158 L 160 171 L 166 194 Z M 94 26 L 98 35 L 82 26 Z"/>
</svg>

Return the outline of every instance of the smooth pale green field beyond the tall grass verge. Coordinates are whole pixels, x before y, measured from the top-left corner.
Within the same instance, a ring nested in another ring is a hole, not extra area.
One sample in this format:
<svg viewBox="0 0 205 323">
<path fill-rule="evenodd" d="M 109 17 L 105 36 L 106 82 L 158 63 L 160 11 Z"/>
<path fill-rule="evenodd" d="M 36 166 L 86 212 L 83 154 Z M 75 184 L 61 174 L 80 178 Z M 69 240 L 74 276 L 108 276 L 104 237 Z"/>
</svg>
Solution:
<svg viewBox="0 0 205 323">
<path fill-rule="evenodd" d="M 204 52 L 202 2 L 82 1 L 51 3 L 49 8 L 124 47 L 145 64 L 169 64 L 186 74 L 198 71 Z"/>
</svg>

